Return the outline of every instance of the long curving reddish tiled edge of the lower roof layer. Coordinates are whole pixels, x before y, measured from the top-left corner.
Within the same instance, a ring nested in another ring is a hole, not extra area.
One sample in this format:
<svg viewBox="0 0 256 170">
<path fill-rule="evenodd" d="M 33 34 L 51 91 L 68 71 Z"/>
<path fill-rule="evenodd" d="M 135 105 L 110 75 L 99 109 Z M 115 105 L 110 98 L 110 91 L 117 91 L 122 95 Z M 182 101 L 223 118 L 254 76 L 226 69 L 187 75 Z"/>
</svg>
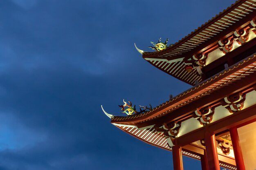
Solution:
<svg viewBox="0 0 256 170">
<path fill-rule="evenodd" d="M 131 115 L 127 117 L 112 117 L 111 122 L 117 124 L 139 124 L 153 119 L 159 119 L 162 116 L 173 114 L 173 112 L 179 108 L 182 108 L 190 103 L 204 97 L 211 95 L 215 91 L 218 91 L 226 86 L 232 86 L 235 82 L 242 81 L 243 78 L 248 77 L 256 73 L 256 54 L 247 57 L 245 60 L 234 64 L 228 69 L 212 76 L 204 82 L 194 86 L 189 90 L 177 95 L 173 99 L 160 104 L 148 111 L 139 115 Z M 197 106 L 200 107 L 200 106 Z"/>
</svg>

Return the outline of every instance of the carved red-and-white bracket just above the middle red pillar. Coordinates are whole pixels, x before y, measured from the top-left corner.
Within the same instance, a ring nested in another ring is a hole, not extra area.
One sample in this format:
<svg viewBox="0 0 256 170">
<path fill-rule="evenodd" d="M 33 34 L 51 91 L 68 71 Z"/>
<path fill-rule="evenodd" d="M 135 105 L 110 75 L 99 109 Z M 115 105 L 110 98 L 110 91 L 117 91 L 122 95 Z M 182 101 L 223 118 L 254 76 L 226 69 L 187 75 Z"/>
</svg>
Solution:
<svg viewBox="0 0 256 170">
<path fill-rule="evenodd" d="M 209 124 L 212 121 L 214 114 L 214 108 L 206 107 L 195 110 L 193 117 L 198 119 L 201 125 Z"/>
</svg>

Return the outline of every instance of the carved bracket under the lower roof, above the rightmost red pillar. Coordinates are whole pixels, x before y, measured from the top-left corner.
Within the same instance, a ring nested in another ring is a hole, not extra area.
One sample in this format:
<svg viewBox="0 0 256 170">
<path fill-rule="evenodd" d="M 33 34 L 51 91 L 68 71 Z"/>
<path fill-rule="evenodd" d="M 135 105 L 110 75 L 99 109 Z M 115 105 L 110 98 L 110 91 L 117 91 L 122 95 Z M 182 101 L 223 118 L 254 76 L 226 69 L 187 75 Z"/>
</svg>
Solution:
<svg viewBox="0 0 256 170">
<path fill-rule="evenodd" d="M 233 95 L 225 97 L 221 105 L 229 110 L 230 113 L 236 113 L 244 106 L 245 94 L 235 93 Z"/>
</svg>

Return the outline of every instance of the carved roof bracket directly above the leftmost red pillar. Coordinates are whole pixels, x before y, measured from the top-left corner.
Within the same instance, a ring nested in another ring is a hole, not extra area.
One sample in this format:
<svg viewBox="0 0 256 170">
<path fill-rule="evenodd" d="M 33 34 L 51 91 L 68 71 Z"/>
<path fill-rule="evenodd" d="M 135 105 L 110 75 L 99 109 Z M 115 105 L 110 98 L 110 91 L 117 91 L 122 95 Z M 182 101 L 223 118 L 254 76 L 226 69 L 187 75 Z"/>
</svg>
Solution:
<svg viewBox="0 0 256 170">
<path fill-rule="evenodd" d="M 163 124 L 162 126 L 155 125 L 154 128 L 157 132 L 163 132 L 166 137 L 177 137 L 181 123 L 171 122 L 169 124 Z"/>
</svg>

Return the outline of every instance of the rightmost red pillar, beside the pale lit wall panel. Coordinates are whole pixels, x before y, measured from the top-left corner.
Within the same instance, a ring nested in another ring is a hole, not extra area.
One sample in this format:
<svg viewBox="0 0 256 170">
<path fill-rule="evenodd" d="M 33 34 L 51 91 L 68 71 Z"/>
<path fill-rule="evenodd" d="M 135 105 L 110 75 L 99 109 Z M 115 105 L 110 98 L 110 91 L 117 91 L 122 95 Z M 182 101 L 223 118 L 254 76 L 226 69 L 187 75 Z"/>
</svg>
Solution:
<svg viewBox="0 0 256 170">
<path fill-rule="evenodd" d="M 230 137 L 233 145 L 235 160 L 236 160 L 236 168 L 237 170 L 245 170 L 245 163 L 242 155 L 242 150 L 239 142 L 237 128 L 230 128 Z"/>
</svg>

